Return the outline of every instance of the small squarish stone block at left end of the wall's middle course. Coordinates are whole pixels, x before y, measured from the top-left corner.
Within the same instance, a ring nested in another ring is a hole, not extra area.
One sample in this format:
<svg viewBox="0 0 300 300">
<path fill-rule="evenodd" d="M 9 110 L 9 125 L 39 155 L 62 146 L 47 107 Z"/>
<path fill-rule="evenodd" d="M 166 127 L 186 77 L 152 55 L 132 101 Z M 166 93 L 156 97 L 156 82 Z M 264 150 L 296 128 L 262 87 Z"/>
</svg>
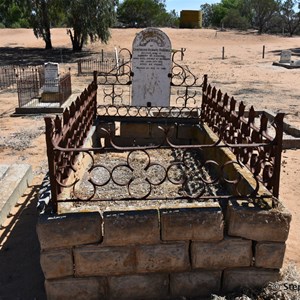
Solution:
<svg viewBox="0 0 300 300">
<path fill-rule="evenodd" d="M 42 251 L 40 262 L 46 279 L 73 276 L 72 249 Z"/>
</svg>

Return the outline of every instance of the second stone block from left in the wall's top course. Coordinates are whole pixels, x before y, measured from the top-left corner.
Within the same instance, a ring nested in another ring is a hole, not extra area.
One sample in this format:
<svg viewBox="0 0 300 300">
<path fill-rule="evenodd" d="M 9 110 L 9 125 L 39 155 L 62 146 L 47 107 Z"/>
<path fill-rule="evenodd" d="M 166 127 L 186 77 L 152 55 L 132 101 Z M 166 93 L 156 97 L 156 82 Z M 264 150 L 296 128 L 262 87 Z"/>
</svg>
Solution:
<svg viewBox="0 0 300 300">
<path fill-rule="evenodd" d="M 155 244 L 160 241 L 156 209 L 104 212 L 106 245 Z"/>
</svg>

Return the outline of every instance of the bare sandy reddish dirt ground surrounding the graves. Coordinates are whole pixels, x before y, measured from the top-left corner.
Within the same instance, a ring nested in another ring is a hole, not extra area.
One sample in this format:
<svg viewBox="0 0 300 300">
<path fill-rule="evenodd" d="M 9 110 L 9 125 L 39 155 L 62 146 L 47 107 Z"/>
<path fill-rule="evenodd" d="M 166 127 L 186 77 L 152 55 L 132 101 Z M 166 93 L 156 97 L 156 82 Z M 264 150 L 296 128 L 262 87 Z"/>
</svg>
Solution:
<svg viewBox="0 0 300 300">
<path fill-rule="evenodd" d="M 0 66 L 59 62 L 62 69 L 71 67 L 73 93 L 79 94 L 92 78 L 77 77 L 75 61 L 80 57 L 99 56 L 101 49 L 131 50 L 138 31 L 113 29 L 108 44 L 97 42 L 87 45 L 82 53 L 73 54 L 66 29 L 52 30 L 54 51 L 43 50 L 43 41 L 36 39 L 30 29 L 0 29 Z M 293 60 L 300 60 L 300 37 L 205 29 L 163 31 L 170 37 L 173 49 L 186 48 L 184 64 L 199 78 L 208 74 L 209 83 L 256 110 L 285 112 L 285 121 L 300 128 L 300 69 L 272 66 L 285 49 L 293 51 Z M 7 227 L 0 230 L 0 299 L 44 299 L 35 234 L 36 190 L 47 172 L 44 116 L 12 117 L 17 105 L 15 90 L 0 90 L 0 164 L 29 163 L 35 178 L 20 200 L 20 207 L 8 219 Z M 280 199 L 293 215 L 285 264 L 295 262 L 300 267 L 300 150 L 284 151 L 281 178 Z"/>
</svg>

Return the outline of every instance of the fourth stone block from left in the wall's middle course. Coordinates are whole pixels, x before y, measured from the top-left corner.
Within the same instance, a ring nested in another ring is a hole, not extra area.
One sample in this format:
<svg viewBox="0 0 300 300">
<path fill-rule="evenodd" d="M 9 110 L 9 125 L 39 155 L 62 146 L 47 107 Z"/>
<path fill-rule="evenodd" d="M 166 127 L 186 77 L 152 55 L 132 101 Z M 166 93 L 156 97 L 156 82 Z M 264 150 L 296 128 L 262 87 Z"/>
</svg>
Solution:
<svg viewBox="0 0 300 300">
<path fill-rule="evenodd" d="M 220 242 L 192 242 L 191 259 L 193 269 L 225 269 L 250 267 L 252 241 L 226 238 Z"/>
</svg>

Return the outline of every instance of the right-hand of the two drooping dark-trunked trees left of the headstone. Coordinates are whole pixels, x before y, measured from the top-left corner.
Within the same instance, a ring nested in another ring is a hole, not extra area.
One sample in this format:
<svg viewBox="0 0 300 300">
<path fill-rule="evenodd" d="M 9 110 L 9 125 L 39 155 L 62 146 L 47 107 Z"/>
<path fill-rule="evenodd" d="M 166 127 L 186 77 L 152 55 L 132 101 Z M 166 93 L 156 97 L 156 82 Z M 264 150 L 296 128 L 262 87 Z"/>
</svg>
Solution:
<svg viewBox="0 0 300 300">
<path fill-rule="evenodd" d="M 107 42 L 109 27 L 115 21 L 114 0 L 61 0 L 66 15 L 67 32 L 73 51 L 81 51 L 90 37 L 91 41 Z"/>
</svg>

